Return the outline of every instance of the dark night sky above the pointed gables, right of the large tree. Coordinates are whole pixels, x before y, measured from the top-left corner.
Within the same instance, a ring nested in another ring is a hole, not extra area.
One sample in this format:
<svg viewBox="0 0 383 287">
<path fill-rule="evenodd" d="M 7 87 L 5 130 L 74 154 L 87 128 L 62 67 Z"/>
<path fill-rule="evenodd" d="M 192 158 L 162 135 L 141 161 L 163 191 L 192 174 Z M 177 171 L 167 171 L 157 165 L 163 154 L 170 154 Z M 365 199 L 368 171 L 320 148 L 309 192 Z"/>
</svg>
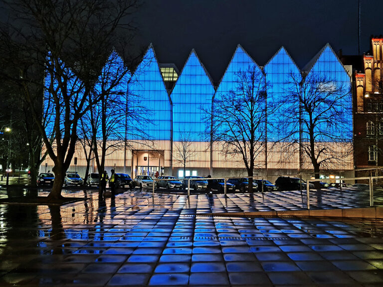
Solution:
<svg viewBox="0 0 383 287">
<path fill-rule="evenodd" d="M 361 0 L 361 53 L 383 34 L 383 0 Z M 377 12 L 378 11 L 378 12 Z M 140 46 L 182 69 L 192 48 L 218 82 L 237 44 L 263 66 L 283 45 L 302 68 L 326 44 L 358 54 L 358 0 L 146 0 Z"/>
</svg>

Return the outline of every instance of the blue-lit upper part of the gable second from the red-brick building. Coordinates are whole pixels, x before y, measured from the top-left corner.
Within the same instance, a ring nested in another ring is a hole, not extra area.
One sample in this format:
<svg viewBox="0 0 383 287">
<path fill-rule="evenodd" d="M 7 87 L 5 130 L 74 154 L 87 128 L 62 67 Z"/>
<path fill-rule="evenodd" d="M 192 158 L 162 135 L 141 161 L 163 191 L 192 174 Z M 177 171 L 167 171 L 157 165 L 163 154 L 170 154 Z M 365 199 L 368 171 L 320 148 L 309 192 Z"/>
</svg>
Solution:
<svg viewBox="0 0 383 287">
<path fill-rule="evenodd" d="M 299 87 L 292 83 L 292 77 L 300 82 L 302 77 L 290 55 L 282 47 L 265 65 L 268 105 L 268 142 L 299 139 L 299 122 L 283 121 L 285 112 L 291 110 L 286 97 L 292 92 L 299 93 Z M 297 104 L 297 103 L 296 103 Z M 294 104 L 293 104 L 294 105 Z M 291 137 L 289 137 L 291 136 Z"/>
</svg>

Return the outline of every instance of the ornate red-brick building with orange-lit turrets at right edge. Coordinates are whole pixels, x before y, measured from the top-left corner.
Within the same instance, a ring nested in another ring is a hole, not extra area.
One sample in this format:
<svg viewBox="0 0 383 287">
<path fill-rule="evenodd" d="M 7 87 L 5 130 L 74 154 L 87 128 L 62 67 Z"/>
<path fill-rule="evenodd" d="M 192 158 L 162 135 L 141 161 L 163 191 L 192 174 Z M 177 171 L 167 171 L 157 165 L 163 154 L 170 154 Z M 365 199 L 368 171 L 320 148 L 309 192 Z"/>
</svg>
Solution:
<svg viewBox="0 0 383 287">
<path fill-rule="evenodd" d="M 363 71 L 354 73 L 355 163 L 360 169 L 383 165 L 383 38 L 371 39 L 372 55 L 363 55 Z M 360 171 L 375 175 L 376 171 Z M 379 175 L 382 175 L 379 173 Z"/>
</svg>

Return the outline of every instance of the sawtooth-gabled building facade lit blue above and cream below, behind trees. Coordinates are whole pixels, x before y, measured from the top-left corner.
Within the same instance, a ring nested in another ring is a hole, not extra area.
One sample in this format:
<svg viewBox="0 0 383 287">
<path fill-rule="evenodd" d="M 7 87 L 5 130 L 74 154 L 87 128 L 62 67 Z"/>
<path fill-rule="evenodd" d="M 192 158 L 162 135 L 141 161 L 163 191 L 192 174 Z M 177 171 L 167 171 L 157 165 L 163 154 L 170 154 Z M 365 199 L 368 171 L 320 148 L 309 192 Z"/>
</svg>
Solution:
<svg viewBox="0 0 383 287">
<path fill-rule="evenodd" d="M 131 121 L 127 118 L 125 127 L 125 130 L 131 127 L 141 129 L 147 139 L 125 132 L 125 140 L 129 144 L 121 150 L 108 154 L 106 169 L 114 168 L 116 172 L 129 173 L 133 177 L 139 174 L 154 174 L 156 171 L 178 177 L 246 174 L 240 156 L 223 154 L 221 143 L 211 143 L 209 113 L 214 105 L 214 99 L 219 99 L 235 89 L 237 73 L 249 66 L 255 67 L 264 75 L 267 107 L 280 101 L 286 96 L 286 91 L 291 90 L 291 83 L 289 84 L 291 75 L 302 77 L 303 74 L 316 73 L 331 78 L 334 85 L 351 87 L 349 73 L 329 45 L 326 45 L 302 70 L 284 47 L 262 67 L 238 45 L 218 84 L 213 83 L 194 50 L 179 73 L 177 67 L 172 64 L 159 64 L 151 45 L 127 84 L 128 92 L 137 95 L 140 98 L 140 105 L 148 111 L 148 122 Z M 351 92 L 344 105 L 352 107 Z M 264 126 L 264 142 L 260 143 L 262 152 L 256 158 L 257 175 L 296 173 L 311 168 L 309 158 L 302 155 L 299 148 L 294 151 L 291 151 L 291 148 L 286 150 L 283 135 L 276 129 L 282 116 L 283 109 L 279 107 L 268 117 L 268 122 Z M 352 144 L 352 118 L 350 109 L 350 113 L 343 119 L 349 123 L 347 129 L 332 131 L 334 134 L 341 134 L 347 145 Z M 292 124 L 288 129 L 299 129 L 299 125 Z M 295 138 L 290 138 L 290 141 L 299 141 L 299 133 L 294 135 Z M 325 138 L 320 141 L 336 148 L 339 145 L 337 151 L 340 153 L 346 150 L 342 141 Z M 184 142 L 190 143 L 185 174 L 180 154 L 180 146 Z M 286 156 L 287 153 L 291 154 Z M 79 147 L 74 155 L 77 157 L 77 165 L 70 169 L 76 169 L 84 175 L 86 164 L 82 154 L 83 150 Z M 41 170 L 44 171 L 44 168 L 52 169 L 50 159 L 42 163 Z M 352 153 L 346 154 L 343 161 L 334 162 L 326 167 L 329 171 L 353 168 Z M 91 171 L 96 171 L 94 162 Z"/>
</svg>

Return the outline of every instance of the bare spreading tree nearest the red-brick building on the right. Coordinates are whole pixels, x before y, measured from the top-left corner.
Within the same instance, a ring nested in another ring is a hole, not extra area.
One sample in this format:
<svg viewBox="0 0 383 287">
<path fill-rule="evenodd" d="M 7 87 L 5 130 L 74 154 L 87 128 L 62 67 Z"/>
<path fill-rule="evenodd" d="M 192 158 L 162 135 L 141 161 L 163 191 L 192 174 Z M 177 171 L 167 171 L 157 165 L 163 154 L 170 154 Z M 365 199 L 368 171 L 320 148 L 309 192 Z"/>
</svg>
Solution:
<svg viewBox="0 0 383 287">
<path fill-rule="evenodd" d="M 352 99 L 350 87 L 316 73 L 290 75 L 282 98 L 280 132 L 298 143 L 311 162 L 316 178 L 352 154 Z M 291 147 L 293 144 L 291 144 Z"/>
</svg>

